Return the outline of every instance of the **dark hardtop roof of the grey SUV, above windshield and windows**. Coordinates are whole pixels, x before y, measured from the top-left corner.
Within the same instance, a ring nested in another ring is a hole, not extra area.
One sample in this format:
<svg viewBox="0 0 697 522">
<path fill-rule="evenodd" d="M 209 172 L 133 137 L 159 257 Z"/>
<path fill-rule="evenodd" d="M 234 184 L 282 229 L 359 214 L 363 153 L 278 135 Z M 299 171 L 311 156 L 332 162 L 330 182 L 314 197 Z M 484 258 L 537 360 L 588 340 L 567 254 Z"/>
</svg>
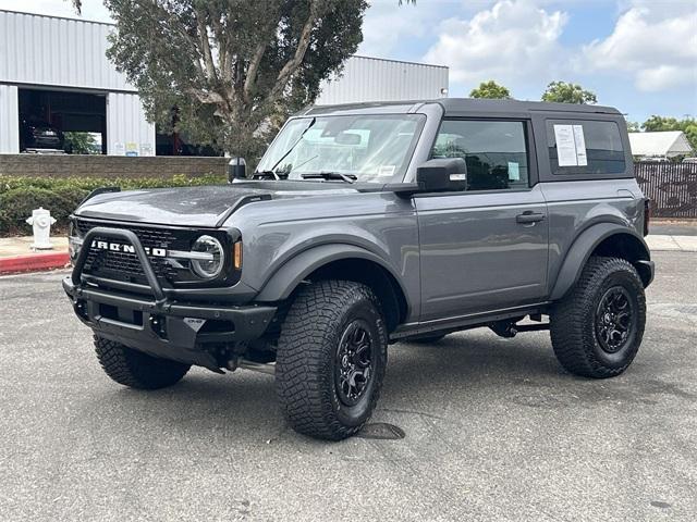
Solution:
<svg viewBox="0 0 697 522">
<path fill-rule="evenodd" d="M 612 107 L 587 105 L 580 103 L 550 103 L 546 101 L 519 100 L 482 100 L 474 98 L 438 98 L 435 100 L 408 101 L 371 101 L 362 103 L 345 103 L 340 105 L 315 105 L 301 111 L 297 115 L 325 113 L 367 113 L 376 112 L 418 112 L 418 107 L 427 103 L 438 103 L 445 115 L 491 114 L 497 116 L 519 115 L 531 112 L 555 113 L 587 113 L 587 114 L 622 114 Z"/>
</svg>

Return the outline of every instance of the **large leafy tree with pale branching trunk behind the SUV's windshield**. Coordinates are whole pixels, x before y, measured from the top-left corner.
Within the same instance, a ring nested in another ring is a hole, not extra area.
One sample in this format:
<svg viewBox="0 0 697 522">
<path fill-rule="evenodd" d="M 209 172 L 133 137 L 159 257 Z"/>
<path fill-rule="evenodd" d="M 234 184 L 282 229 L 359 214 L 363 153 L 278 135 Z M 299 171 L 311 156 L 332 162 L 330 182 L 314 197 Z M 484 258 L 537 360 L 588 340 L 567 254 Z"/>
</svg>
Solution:
<svg viewBox="0 0 697 522">
<path fill-rule="evenodd" d="M 253 159 L 363 40 L 365 0 L 106 0 L 107 55 L 166 130 Z M 172 108 L 175 108 L 173 117 Z"/>
</svg>

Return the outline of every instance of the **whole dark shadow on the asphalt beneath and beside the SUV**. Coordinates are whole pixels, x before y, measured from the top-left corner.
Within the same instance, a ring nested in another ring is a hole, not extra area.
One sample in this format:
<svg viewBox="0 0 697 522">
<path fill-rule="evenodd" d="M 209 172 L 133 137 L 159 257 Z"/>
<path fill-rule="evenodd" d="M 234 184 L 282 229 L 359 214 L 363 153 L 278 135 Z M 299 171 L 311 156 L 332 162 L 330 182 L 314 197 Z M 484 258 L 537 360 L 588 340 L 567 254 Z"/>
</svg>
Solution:
<svg viewBox="0 0 697 522">
<path fill-rule="evenodd" d="M 389 358 L 374 420 L 390 412 L 438 418 L 433 412 L 445 407 L 466 410 L 474 403 L 558 410 L 591 408 L 619 396 L 643 405 L 656 403 L 657 397 L 665 394 L 685 398 L 684 391 L 667 383 L 647 381 L 640 369 L 603 381 L 570 375 L 557 362 L 546 334 L 515 339 L 500 339 L 485 332 L 453 334 L 432 345 L 393 345 Z M 194 369 L 178 385 L 158 391 L 111 383 L 99 391 L 89 400 L 100 405 L 103 422 L 114 426 L 132 424 L 135 418 L 147 425 L 146 431 L 156 433 L 215 433 L 229 439 L 267 443 L 299 437 L 315 444 L 288 427 L 278 407 L 273 378 L 268 375 L 248 371 L 213 375 Z M 418 411 L 413 411 L 411 405 L 416 402 Z"/>
</svg>

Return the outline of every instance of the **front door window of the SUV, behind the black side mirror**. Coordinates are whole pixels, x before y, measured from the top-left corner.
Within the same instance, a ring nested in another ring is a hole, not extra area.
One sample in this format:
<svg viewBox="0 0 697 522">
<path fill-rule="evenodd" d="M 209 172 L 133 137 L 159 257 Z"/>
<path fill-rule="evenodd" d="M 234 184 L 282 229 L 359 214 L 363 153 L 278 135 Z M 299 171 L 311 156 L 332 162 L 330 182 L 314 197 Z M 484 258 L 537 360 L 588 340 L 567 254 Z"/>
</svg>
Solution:
<svg viewBox="0 0 697 522">
<path fill-rule="evenodd" d="M 525 122 L 443 120 L 432 158 L 463 158 L 467 190 L 528 186 Z"/>
</svg>

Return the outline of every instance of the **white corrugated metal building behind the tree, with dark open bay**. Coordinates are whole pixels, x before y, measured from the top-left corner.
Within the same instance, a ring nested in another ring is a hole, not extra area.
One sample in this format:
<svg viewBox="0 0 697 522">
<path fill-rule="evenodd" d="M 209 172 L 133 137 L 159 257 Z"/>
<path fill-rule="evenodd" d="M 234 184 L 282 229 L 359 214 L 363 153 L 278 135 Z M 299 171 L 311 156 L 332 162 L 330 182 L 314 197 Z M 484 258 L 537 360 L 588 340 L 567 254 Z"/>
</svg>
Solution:
<svg viewBox="0 0 697 522">
<path fill-rule="evenodd" d="M 63 130 L 98 133 L 102 150 L 152 156 L 155 125 L 137 89 L 107 60 L 113 25 L 0 10 L 0 153 L 20 152 L 21 121 L 36 114 Z M 439 98 L 448 67 L 354 57 L 318 103 Z"/>
</svg>

